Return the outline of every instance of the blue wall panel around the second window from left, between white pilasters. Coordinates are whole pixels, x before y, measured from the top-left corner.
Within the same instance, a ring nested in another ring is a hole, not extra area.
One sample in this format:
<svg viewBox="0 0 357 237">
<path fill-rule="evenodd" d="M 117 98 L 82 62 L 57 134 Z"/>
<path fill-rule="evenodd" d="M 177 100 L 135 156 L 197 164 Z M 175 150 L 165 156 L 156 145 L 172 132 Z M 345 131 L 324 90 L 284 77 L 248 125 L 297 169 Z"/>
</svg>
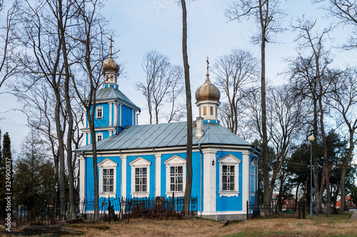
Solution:
<svg viewBox="0 0 357 237">
<path fill-rule="evenodd" d="M 126 158 L 126 197 L 132 198 L 131 196 L 131 165 L 130 162 L 134 161 L 134 159 L 142 157 L 147 161 L 151 162 L 150 164 L 150 198 L 155 197 L 155 157 L 154 154 L 142 155 L 142 156 L 129 156 Z"/>
</svg>

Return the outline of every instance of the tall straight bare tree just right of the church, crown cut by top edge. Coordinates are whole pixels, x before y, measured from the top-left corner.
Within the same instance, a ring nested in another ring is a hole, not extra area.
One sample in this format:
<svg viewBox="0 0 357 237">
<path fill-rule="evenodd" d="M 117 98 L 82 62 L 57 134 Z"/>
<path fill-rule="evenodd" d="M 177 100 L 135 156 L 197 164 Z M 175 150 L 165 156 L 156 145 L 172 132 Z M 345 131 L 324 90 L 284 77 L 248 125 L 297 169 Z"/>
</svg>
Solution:
<svg viewBox="0 0 357 237">
<path fill-rule="evenodd" d="M 261 132 L 263 147 L 263 175 L 264 175 L 264 204 L 269 205 L 271 196 L 268 196 L 269 170 L 268 170 L 268 133 L 266 127 L 266 43 L 274 41 L 276 33 L 283 31 L 280 9 L 281 1 L 278 0 L 239 0 L 226 10 L 228 20 L 249 19 L 252 17 L 259 28 L 259 33 L 252 37 L 252 42 L 261 46 Z"/>
</svg>

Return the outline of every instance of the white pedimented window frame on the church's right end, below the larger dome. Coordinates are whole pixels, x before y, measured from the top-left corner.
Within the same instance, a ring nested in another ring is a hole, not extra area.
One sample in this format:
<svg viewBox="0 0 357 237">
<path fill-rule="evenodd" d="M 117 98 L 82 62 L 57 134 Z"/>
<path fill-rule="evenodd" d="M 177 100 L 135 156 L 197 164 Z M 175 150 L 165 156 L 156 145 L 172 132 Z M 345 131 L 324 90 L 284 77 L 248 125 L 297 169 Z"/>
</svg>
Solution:
<svg viewBox="0 0 357 237">
<path fill-rule="evenodd" d="M 233 154 L 227 154 L 224 157 L 218 159 L 219 163 L 219 196 L 237 196 L 239 194 L 239 164 L 241 160 L 233 156 Z M 234 167 L 234 189 L 233 190 L 223 190 L 223 165 L 229 165 Z"/>
</svg>

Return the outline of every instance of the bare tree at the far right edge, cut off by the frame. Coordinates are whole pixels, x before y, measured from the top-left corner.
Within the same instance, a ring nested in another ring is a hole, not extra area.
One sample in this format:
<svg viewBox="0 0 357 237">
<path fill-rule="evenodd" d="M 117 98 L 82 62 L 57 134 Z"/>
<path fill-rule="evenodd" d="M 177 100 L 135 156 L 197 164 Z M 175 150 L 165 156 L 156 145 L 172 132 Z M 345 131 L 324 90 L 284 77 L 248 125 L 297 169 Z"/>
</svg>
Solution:
<svg viewBox="0 0 357 237">
<path fill-rule="evenodd" d="M 343 127 L 343 134 L 348 135 L 348 153 L 341 167 L 341 206 L 345 211 L 345 178 L 348 164 L 351 162 L 353 148 L 357 144 L 357 68 L 348 68 L 341 73 L 338 80 L 333 81 L 333 93 L 328 95 L 330 105 L 342 117 L 338 126 Z"/>
</svg>

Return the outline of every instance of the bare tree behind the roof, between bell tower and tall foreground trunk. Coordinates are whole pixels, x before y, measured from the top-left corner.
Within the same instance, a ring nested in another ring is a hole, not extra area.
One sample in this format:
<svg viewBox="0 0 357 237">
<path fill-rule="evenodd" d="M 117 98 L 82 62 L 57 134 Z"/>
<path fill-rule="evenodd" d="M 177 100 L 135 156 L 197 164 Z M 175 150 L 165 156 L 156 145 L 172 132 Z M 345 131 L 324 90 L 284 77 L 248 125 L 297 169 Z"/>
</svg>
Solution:
<svg viewBox="0 0 357 237">
<path fill-rule="evenodd" d="M 149 51 L 144 56 L 142 63 L 146 73 L 145 83 L 137 82 L 136 89 L 140 90 L 146 98 L 148 105 L 150 124 L 153 120 L 153 111 L 156 124 L 159 123 L 159 112 L 165 102 L 171 104 L 169 122 L 179 115 L 181 107 L 175 104 L 176 99 L 183 93 L 183 70 L 178 65 L 173 65 L 167 56 Z"/>
</svg>

